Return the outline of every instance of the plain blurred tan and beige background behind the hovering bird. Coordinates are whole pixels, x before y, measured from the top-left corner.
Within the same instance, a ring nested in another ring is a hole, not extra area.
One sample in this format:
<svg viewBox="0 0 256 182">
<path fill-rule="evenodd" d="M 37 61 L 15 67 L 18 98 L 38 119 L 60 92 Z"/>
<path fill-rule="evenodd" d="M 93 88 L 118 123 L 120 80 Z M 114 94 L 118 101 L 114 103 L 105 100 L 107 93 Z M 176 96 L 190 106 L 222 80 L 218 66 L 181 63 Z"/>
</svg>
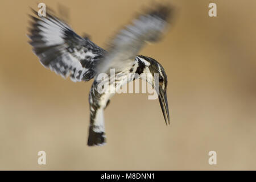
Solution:
<svg viewBox="0 0 256 182">
<path fill-rule="evenodd" d="M 107 144 L 88 147 L 88 93 L 43 68 L 26 37 L 29 6 L 1 1 L 0 169 L 256 169 L 256 2 L 171 1 L 179 9 L 162 42 L 145 47 L 168 75 L 171 125 L 158 100 L 117 94 L 105 110 Z M 151 1 L 61 1 L 78 34 L 104 47 Z M 210 2 L 217 17 L 208 16 Z M 57 11 L 58 12 L 58 11 Z M 47 165 L 37 153 L 46 151 Z M 217 165 L 208 152 L 217 152 Z"/>
</svg>

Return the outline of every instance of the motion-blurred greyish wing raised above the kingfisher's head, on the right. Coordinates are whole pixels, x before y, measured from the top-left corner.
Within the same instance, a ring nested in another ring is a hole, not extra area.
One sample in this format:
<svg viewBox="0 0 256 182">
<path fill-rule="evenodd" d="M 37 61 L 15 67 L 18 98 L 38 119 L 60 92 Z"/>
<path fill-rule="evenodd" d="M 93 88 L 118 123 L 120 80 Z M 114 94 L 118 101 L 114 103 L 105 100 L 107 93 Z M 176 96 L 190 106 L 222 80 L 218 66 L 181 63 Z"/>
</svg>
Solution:
<svg viewBox="0 0 256 182">
<path fill-rule="evenodd" d="M 97 72 L 130 68 L 135 56 L 146 42 L 159 40 L 167 26 L 171 7 L 159 5 L 155 10 L 139 15 L 131 24 L 119 31 L 110 43 L 105 59 L 97 65 Z"/>
</svg>

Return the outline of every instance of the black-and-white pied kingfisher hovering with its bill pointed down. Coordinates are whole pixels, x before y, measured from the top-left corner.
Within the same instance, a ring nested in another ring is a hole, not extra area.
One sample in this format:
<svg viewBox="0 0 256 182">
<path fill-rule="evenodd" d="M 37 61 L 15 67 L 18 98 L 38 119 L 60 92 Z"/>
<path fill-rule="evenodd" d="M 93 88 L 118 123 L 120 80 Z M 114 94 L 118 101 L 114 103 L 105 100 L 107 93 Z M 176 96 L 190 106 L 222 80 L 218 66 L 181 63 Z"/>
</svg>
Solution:
<svg viewBox="0 0 256 182">
<path fill-rule="evenodd" d="M 44 67 L 64 78 L 69 76 L 72 81 L 88 81 L 95 78 L 89 93 L 88 146 L 101 146 L 106 142 L 104 109 L 114 93 L 98 92 L 100 81 L 96 78 L 100 73 L 110 75 L 111 68 L 115 69 L 115 82 L 109 82 L 109 86 L 114 86 L 115 89 L 120 89 L 135 78 L 146 80 L 154 86 L 154 73 L 158 73 L 158 98 L 166 125 L 170 124 L 166 73 L 158 61 L 137 53 L 146 43 L 160 39 L 166 30 L 171 12 L 170 5 L 156 5 L 154 9 L 138 15 L 131 24 L 118 32 L 107 51 L 98 47 L 88 37 L 77 35 L 64 20 L 52 13 L 47 13 L 46 17 L 41 18 L 31 16 L 29 43 Z M 34 13 L 37 15 L 36 11 Z M 123 79 L 129 73 L 137 73 L 138 77 Z M 147 73 L 152 76 L 143 76 Z"/>
</svg>

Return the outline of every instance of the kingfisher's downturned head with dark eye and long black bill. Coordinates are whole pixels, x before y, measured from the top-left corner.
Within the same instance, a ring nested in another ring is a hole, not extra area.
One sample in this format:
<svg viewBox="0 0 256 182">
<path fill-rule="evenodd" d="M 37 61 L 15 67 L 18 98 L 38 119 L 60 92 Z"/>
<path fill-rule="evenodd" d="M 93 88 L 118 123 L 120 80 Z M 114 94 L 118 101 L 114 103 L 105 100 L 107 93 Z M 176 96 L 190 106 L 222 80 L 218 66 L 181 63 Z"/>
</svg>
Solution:
<svg viewBox="0 0 256 182">
<path fill-rule="evenodd" d="M 151 57 L 146 56 L 138 56 L 139 60 L 142 62 L 144 68 L 142 70 L 143 73 L 151 73 L 151 77 L 147 77 L 146 81 L 149 82 L 152 86 L 154 86 L 155 90 L 158 93 L 158 99 L 160 102 L 160 106 L 164 115 L 164 120 L 170 125 L 170 116 L 169 116 L 169 108 L 167 101 L 167 75 L 164 71 L 164 68 L 158 61 L 152 59 Z M 140 66 L 140 65 L 139 65 Z M 142 67 L 142 66 L 141 66 Z M 138 69 L 137 69 L 138 70 Z"/>
</svg>

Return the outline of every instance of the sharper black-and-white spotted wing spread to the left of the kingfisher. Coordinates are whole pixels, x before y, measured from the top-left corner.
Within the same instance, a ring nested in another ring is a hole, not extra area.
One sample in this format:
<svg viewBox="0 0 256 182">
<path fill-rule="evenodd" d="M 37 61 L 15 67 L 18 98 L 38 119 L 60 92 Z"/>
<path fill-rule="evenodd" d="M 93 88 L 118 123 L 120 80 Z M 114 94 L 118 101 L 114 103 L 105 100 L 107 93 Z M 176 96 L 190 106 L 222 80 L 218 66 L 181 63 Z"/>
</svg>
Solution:
<svg viewBox="0 0 256 182">
<path fill-rule="evenodd" d="M 44 67 L 63 77 L 69 76 L 72 81 L 88 81 L 96 75 L 95 67 L 104 57 L 104 49 L 88 38 L 81 38 L 52 14 L 31 18 L 28 38 Z"/>
</svg>

